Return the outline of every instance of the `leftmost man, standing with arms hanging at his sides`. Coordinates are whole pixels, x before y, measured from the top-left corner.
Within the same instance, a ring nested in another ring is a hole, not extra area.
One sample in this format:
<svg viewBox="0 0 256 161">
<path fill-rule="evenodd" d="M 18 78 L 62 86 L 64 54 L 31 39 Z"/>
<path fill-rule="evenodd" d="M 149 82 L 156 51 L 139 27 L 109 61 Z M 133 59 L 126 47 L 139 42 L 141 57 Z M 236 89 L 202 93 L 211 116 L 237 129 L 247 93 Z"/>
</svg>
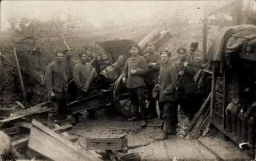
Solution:
<svg viewBox="0 0 256 161">
<path fill-rule="evenodd" d="M 46 68 L 46 88 L 49 91 L 51 111 L 48 114 L 48 127 L 53 128 L 53 122 L 60 119 L 59 114 L 65 113 L 67 103 L 67 80 L 68 73 L 63 65 L 64 54 L 62 51 L 55 52 L 55 60 Z"/>
</svg>

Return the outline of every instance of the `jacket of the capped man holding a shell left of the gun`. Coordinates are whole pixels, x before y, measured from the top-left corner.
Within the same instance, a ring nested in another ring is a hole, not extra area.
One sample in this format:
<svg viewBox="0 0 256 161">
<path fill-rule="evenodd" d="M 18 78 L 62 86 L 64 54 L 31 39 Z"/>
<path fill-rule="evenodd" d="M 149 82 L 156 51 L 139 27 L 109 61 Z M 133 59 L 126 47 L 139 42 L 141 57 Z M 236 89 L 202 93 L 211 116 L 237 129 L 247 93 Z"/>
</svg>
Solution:
<svg viewBox="0 0 256 161">
<path fill-rule="evenodd" d="M 74 82 L 78 89 L 86 84 L 86 81 L 92 70 L 93 67 L 88 62 L 84 64 L 82 64 L 82 62 L 79 62 L 74 66 Z"/>
</svg>

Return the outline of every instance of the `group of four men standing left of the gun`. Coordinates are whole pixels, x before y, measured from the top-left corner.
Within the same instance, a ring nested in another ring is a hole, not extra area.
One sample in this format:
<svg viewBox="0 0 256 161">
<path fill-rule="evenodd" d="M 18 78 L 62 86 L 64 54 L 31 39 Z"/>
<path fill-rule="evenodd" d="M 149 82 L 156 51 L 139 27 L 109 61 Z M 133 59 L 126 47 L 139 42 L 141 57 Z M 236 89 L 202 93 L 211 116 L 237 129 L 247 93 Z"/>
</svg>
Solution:
<svg viewBox="0 0 256 161">
<path fill-rule="evenodd" d="M 51 111 L 48 115 L 48 126 L 53 127 L 53 123 L 64 119 L 67 114 L 71 114 L 71 109 L 67 107 L 68 102 L 75 101 L 77 97 L 87 91 L 83 84 L 88 79 L 91 72 L 95 72 L 90 61 L 93 60 L 93 48 L 86 48 L 86 52 L 79 54 L 80 61 L 75 63 L 72 60 L 71 50 L 56 51 L 55 60 L 48 64 L 45 73 L 45 85 L 49 91 L 51 101 Z M 96 72 L 95 72 L 96 75 Z M 95 119 L 95 110 L 88 110 L 91 119 Z M 76 114 L 73 117 L 81 113 Z M 75 124 L 77 120 L 73 120 Z"/>
</svg>

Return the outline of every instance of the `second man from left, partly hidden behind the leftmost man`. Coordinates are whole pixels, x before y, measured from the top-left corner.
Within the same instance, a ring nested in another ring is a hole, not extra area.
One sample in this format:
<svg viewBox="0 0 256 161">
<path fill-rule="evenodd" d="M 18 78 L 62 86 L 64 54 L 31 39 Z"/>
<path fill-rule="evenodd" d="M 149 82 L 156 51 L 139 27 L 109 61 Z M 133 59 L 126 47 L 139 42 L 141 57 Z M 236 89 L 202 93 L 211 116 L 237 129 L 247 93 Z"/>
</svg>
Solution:
<svg viewBox="0 0 256 161">
<path fill-rule="evenodd" d="M 74 81 L 71 81 L 73 79 L 73 68 L 75 66 L 75 61 L 72 60 L 72 51 L 67 49 L 64 51 L 65 59 L 64 59 L 64 65 L 68 71 L 68 91 L 69 91 L 69 102 L 73 102 L 77 99 L 77 87 L 74 83 Z"/>
</svg>

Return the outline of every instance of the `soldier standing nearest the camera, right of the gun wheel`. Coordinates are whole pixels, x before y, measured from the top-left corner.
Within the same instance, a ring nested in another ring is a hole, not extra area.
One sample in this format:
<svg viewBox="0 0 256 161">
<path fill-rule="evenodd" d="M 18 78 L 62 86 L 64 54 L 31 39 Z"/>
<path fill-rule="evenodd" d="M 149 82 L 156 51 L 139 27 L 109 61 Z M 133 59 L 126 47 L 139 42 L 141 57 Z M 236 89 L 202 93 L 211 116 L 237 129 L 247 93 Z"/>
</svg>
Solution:
<svg viewBox="0 0 256 161">
<path fill-rule="evenodd" d="M 169 63 L 170 52 L 163 50 L 161 53 L 161 68 L 156 86 L 159 91 L 159 104 L 163 107 L 162 133 L 156 140 L 166 140 L 168 135 L 176 135 L 178 123 L 178 73 L 176 67 Z"/>
</svg>

